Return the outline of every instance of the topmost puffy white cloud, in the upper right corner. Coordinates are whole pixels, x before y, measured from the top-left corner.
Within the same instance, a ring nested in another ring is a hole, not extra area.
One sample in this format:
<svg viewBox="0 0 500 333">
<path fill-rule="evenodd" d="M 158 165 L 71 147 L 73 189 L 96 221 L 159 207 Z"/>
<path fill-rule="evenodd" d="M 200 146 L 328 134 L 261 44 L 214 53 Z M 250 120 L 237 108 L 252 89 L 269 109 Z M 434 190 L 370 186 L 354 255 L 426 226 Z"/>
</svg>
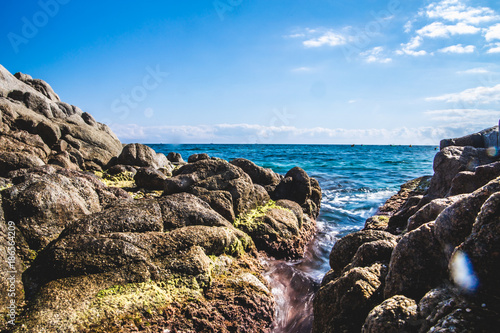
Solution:
<svg viewBox="0 0 500 333">
<path fill-rule="evenodd" d="M 430 19 L 474 25 L 500 19 L 500 16 L 489 7 L 471 7 L 461 0 L 443 0 L 432 3 L 427 6 L 425 15 Z"/>
</svg>

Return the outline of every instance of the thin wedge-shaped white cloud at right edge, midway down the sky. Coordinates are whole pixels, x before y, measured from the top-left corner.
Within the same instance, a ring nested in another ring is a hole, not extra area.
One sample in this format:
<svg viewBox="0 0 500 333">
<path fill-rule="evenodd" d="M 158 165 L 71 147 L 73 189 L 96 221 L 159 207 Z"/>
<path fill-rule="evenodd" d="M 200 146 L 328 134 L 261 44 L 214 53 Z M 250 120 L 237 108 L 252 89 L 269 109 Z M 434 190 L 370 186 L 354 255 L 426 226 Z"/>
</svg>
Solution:
<svg viewBox="0 0 500 333">
<path fill-rule="evenodd" d="M 477 87 L 459 93 L 426 98 L 427 101 L 446 103 L 492 104 L 500 102 L 500 84 L 494 87 Z"/>
</svg>

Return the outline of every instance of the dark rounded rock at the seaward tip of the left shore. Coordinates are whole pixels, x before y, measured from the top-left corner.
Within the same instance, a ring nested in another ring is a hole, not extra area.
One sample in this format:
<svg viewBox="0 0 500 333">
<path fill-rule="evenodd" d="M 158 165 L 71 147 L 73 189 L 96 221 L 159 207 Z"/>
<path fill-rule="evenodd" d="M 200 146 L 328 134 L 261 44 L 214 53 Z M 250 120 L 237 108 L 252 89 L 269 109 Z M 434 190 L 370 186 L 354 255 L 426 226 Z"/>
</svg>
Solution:
<svg viewBox="0 0 500 333">
<path fill-rule="evenodd" d="M 276 186 L 271 199 L 295 201 L 302 206 L 304 213 L 316 219 L 321 205 L 321 188 L 316 179 L 309 178 L 304 170 L 295 167 Z"/>
</svg>

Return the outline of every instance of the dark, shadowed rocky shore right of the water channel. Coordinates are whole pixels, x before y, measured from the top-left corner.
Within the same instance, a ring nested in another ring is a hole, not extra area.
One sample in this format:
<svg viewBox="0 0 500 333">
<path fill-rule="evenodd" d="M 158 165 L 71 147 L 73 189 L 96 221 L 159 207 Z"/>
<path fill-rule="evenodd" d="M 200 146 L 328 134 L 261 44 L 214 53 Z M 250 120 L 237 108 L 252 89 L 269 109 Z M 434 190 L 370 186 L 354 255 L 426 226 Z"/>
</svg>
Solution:
<svg viewBox="0 0 500 333">
<path fill-rule="evenodd" d="M 494 332 L 500 324 L 498 127 L 443 140 L 412 180 L 336 242 L 313 332 Z"/>
</svg>

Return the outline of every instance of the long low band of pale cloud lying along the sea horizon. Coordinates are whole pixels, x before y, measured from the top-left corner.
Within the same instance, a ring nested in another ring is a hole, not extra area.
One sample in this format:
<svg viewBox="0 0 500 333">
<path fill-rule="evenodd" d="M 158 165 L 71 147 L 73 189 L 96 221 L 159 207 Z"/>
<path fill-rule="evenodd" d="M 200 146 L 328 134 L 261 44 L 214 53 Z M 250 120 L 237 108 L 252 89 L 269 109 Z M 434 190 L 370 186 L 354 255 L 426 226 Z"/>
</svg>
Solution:
<svg viewBox="0 0 500 333">
<path fill-rule="evenodd" d="M 251 124 L 200 126 L 112 125 L 123 142 L 143 143 L 324 143 L 324 144 L 437 144 L 439 140 L 482 128 L 418 127 L 395 129 L 297 128 Z"/>
</svg>

